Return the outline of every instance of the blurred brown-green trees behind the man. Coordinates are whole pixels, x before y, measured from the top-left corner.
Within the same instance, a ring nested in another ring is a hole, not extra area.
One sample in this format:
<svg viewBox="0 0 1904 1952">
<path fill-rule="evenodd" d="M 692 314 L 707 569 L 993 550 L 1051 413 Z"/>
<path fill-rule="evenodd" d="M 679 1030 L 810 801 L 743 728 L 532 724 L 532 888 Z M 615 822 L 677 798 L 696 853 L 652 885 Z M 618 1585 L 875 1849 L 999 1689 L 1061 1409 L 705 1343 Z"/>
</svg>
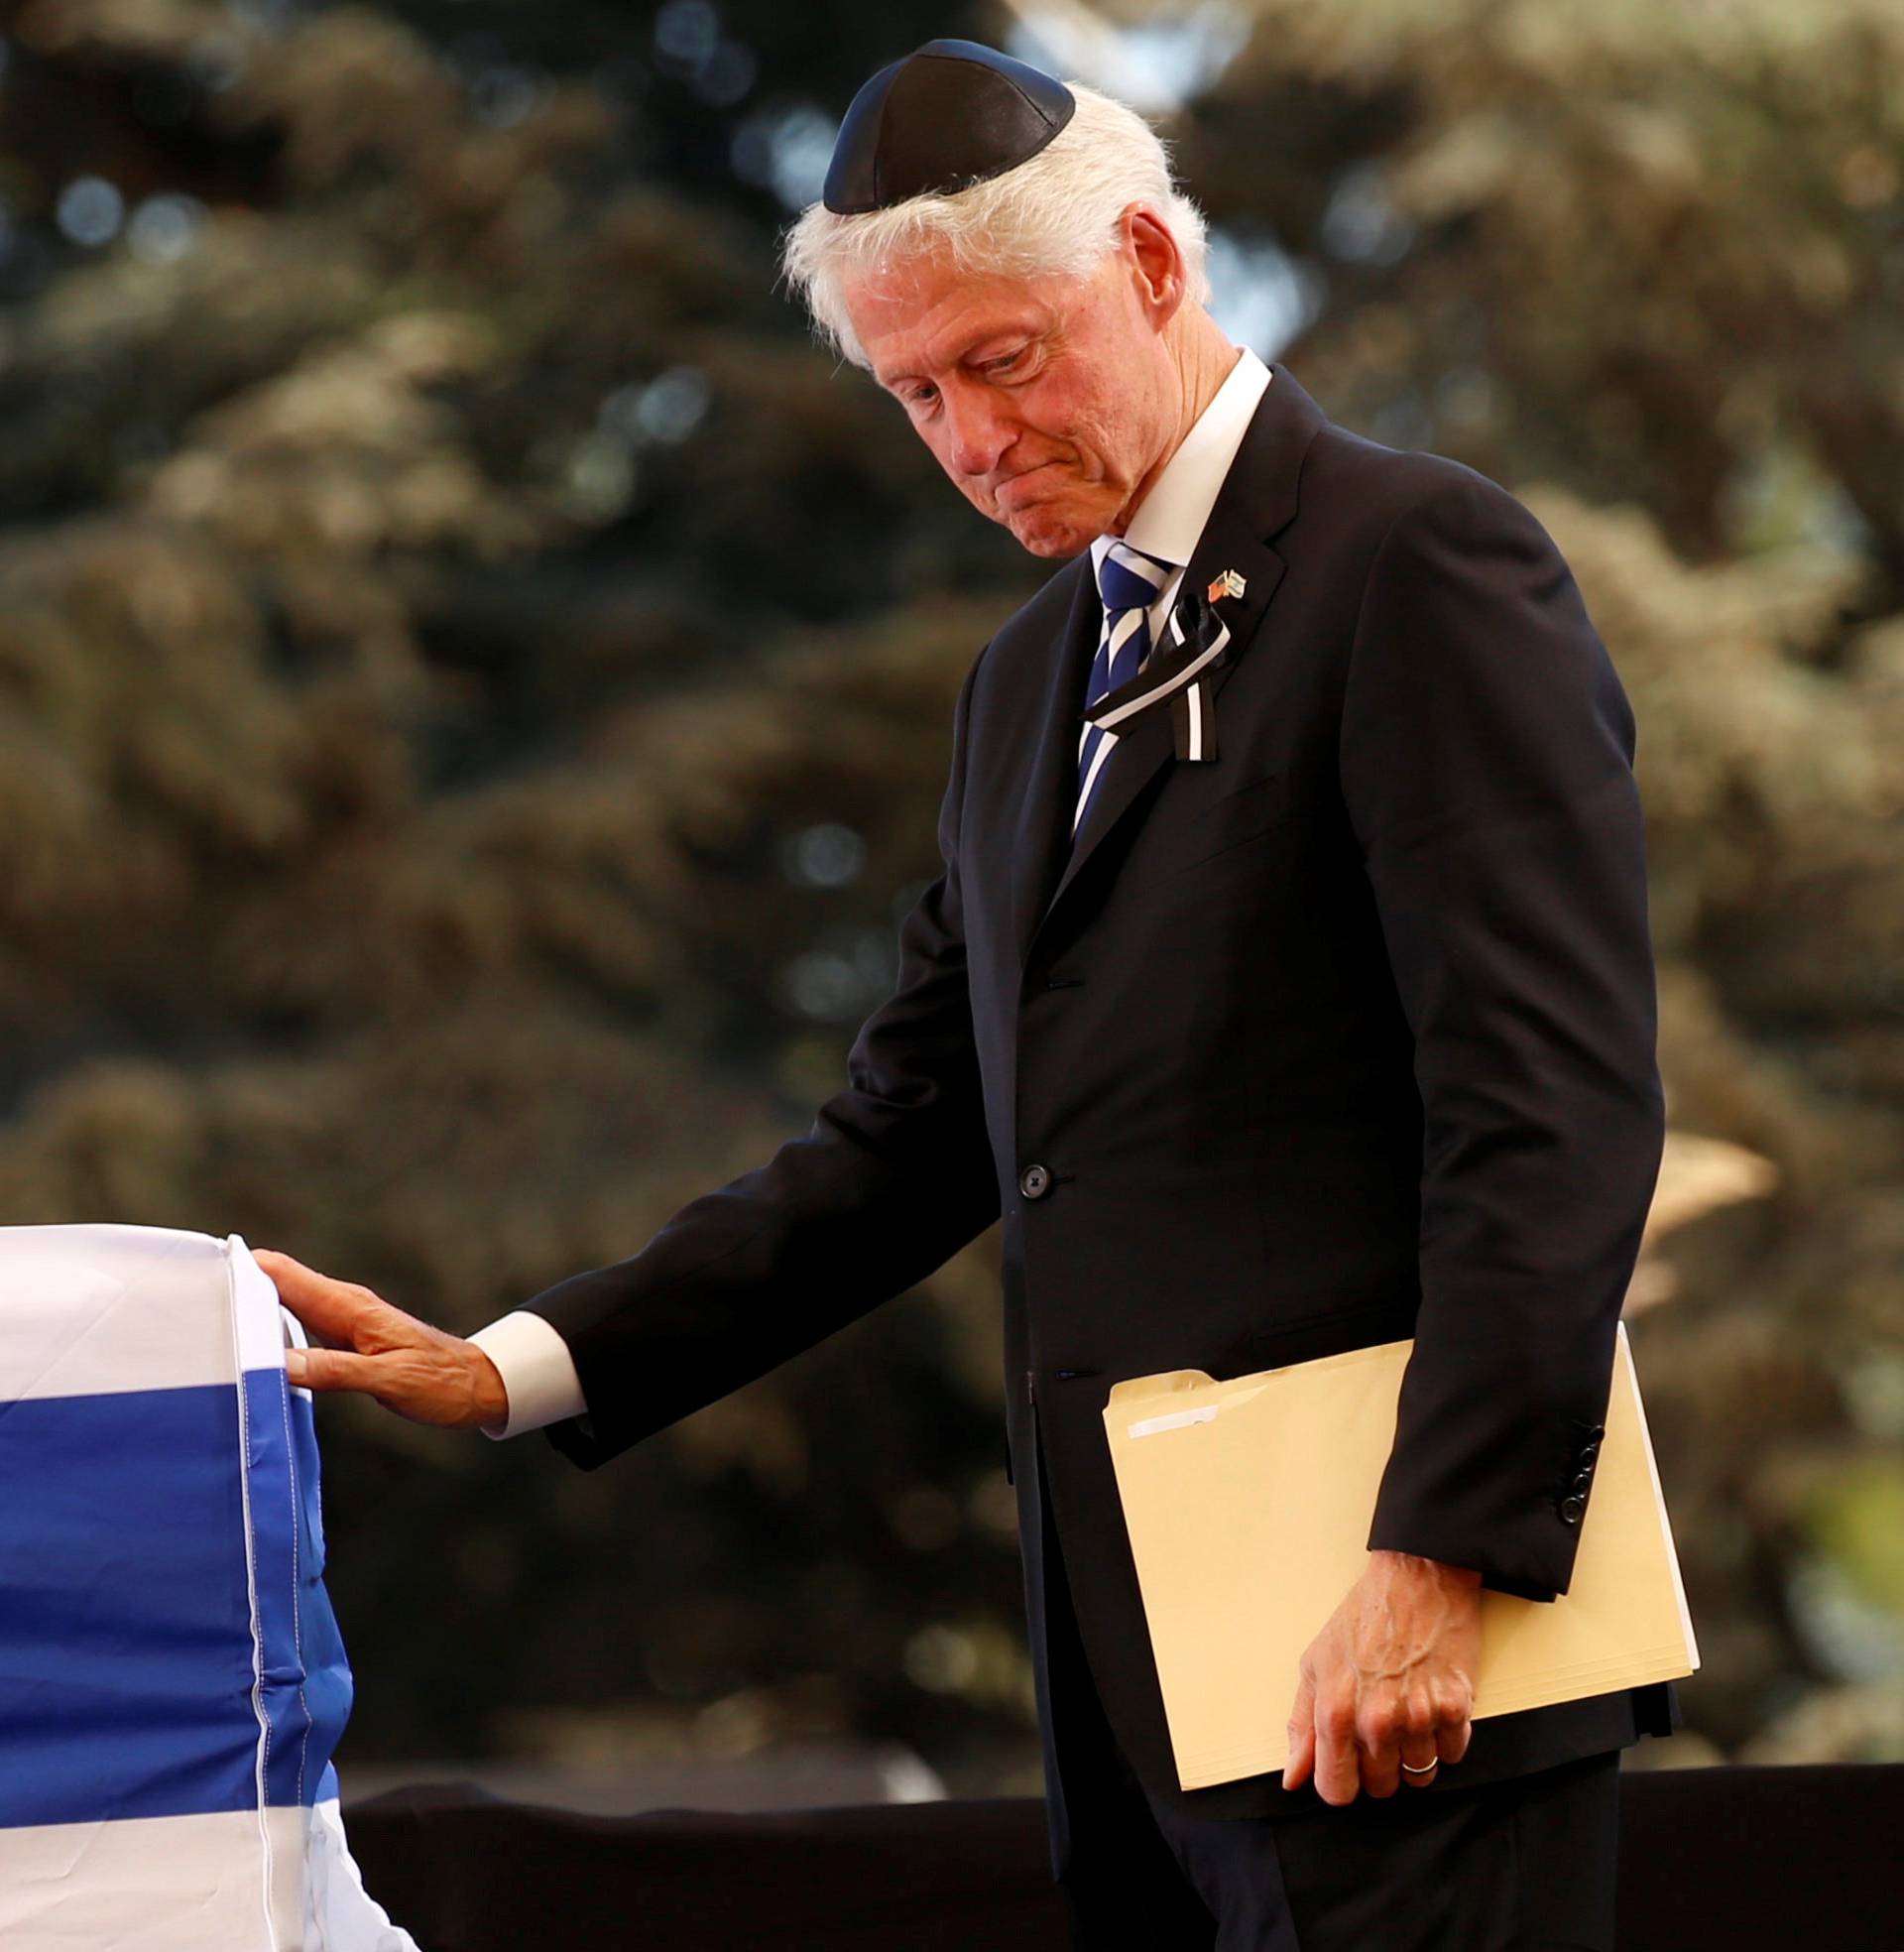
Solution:
<svg viewBox="0 0 1904 1952">
<path fill-rule="evenodd" d="M 0 8 L 0 1220 L 470 1329 L 837 1089 L 1040 580 L 774 289 L 934 33 L 1153 113 L 1231 334 L 1574 564 L 1674 1126 L 1652 1747 L 1904 1755 L 1894 0 Z M 601 1474 L 326 1405 L 345 1763 L 1034 1786 L 995 1343 L 985 1240 Z"/>
</svg>

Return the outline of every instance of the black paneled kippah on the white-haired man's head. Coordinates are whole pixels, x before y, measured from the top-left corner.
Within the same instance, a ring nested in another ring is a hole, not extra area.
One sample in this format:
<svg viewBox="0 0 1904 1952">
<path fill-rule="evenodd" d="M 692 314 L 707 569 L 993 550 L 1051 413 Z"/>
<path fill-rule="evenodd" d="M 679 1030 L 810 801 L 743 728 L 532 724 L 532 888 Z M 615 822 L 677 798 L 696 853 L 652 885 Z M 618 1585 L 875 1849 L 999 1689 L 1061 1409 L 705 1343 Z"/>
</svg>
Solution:
<svg viewBox="0 0 1904 1952">
<path fill-rule="evenodd" d="M 950 193 L 1028 162 L 1077 109 L 1063 82 L 977 41 L 927 41 L 866 82 L 821 203 L 841 217 Z"/>
</svg>

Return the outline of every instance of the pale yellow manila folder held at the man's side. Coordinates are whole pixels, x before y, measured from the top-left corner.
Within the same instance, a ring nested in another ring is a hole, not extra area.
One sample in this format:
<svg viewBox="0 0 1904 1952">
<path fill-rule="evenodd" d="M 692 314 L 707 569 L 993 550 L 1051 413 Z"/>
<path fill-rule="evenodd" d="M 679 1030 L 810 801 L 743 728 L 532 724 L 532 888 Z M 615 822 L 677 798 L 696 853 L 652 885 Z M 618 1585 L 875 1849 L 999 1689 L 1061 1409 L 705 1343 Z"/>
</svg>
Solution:
<svg viewBox="0 0 1904 1952">
<path fill-rule="evenodd" d="M 1120 1382 L 1104 1405 L 1176 1772 L 1278 1770 L 1297 1665 L 1368 1560 L 1412 1341 L 1213 1382 Z M 1557 1601 L 1485 1593 L 1475 1720 L 1699 1667 L 1646 1415 L 1619 1323 L 1574 1575 Z"/>
</svg>

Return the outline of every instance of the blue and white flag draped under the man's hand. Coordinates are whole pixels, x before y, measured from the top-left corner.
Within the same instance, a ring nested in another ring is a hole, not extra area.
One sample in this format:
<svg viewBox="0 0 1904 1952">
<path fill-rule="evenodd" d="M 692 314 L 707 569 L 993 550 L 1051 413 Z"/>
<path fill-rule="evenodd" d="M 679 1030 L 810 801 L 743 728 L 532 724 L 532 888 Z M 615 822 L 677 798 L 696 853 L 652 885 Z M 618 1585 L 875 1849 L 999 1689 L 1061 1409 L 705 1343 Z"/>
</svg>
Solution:
<svg viewBox="0 0 1904 1952">
<path fill-rule="evenodd" d="M 343 1843 L 287 1335 L 236 1234 L 0 1228 L 6 1952 L 416 1952 Z"/>
</svg>

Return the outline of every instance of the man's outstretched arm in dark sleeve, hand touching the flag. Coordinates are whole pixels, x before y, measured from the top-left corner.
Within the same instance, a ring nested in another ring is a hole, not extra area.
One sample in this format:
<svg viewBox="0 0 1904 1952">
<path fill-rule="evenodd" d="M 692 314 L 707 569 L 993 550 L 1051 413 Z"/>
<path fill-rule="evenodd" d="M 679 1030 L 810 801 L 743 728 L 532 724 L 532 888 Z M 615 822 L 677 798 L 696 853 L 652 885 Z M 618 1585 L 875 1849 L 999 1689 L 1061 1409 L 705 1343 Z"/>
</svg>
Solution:
<svg viewBox="0 0 1904 1952">
<path fill-rule="evenodd" d="M 259 1251 L 285 1306 L 343 1345 L 308 1351 L 293 1380 L 365 1390 L 423 1423 L 515 1431 L 527 1425 L 505 1374 L 562 1390 L 548 1343 L 536 1343 L 548 1323 L 581 1388 L 564 1407 L 587 1409 L 550 1437 L 593 1466 L 905 1292 L 997 1218 L 958 859 L 975 673 L 977 662 L 952 720 L 942 873 L 899 929 L 899 980 L 853 1044 L 847 1087 L 812 1126 L 767 1165 L 691 1200 L 634 1257 L 570 1277 L 484 1329 L 501 1366 L 478 1341 L 443 1335 L 369 1288 Z"/>
</svg>

